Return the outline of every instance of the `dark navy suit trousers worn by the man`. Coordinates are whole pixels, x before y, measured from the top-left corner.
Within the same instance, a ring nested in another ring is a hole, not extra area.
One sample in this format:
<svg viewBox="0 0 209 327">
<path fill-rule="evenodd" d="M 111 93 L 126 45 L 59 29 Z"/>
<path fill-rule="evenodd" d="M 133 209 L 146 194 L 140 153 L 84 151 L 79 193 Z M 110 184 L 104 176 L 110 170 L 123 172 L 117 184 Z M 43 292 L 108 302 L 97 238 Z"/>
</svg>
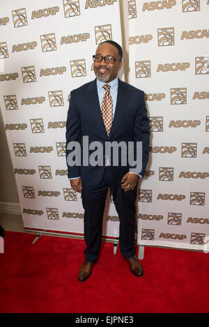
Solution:
<svg viewBox="0 0 209 327">
<path fill-rule="evenodd" d="M 122 177 L 121 177 L 122 179 Z M 137 186 L 134 190 L 123 190 L 121 181 L 115 179 L 111 167 L 105 167 L 104 175 L 98 185 L 82 185 L 82 204 L 84 206 L 85 259 L 92 262 L 98 259 L 102 241 L 102 220 L 108 188 L 113 196 L 120 220 L 119 245 L 121 253 L 127 257 L 135 255 L 135 227 Z"/>
</svg>

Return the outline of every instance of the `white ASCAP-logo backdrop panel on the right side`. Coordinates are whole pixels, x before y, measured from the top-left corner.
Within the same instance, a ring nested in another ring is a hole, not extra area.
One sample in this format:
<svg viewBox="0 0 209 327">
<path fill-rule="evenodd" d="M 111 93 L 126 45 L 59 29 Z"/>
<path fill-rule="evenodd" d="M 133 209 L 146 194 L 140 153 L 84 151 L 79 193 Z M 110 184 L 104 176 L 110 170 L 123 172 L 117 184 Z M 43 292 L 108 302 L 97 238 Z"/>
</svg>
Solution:
<svg viewBox="0 0 209 327">
<path fill-rule="evenodd" d="M 138 243 L 204 249 L 209 239 L 209 1 L 128 1 L 130 84 L 146 93 L 150 160 Z"/>
</svg>

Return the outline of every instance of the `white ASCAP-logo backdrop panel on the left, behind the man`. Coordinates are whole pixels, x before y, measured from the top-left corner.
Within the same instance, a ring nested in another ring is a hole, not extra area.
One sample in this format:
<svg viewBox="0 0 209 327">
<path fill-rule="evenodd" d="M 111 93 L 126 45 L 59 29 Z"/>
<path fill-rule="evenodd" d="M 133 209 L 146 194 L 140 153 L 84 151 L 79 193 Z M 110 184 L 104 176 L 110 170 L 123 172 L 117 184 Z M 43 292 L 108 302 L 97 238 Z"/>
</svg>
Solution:
<svg viewBox="0 0 209 327">
<path fill-rule="evenodd" d="M 1 1 L 0 35 L 0 104 L 24 227 L 83 234 L 65 163 L 68 100 L 95 79 L 98 45 L 121 44 L 119 1 Z M 104 234 L 118 236 L 118 224 L 107 203 Z"/>
</svg>

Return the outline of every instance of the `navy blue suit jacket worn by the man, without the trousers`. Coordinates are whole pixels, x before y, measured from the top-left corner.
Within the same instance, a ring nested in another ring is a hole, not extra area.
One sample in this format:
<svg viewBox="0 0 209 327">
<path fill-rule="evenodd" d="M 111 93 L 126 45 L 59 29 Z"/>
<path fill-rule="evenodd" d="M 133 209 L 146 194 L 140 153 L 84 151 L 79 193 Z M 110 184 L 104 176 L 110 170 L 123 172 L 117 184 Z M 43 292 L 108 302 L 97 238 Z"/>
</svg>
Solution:
<svg viewBox="0 0 209 327">
<path fill-rule="evenodd" d="M 138 172 L 144 176 L 149 152 L 149 123 L 144 101 L 144 92 L 134 86 L 118 79 L 118 96 L 114 120 L 107 136 L 102 119 L 96 79 L 71 91 L 68 118 L 66 122 L 66 159 L 68 165 L 68 178 L 82 177 L 82 181 L 88 185 L 98 185 L 105 169 L 105 158 L 102 166 L 92 167 L 82 164 L 71 166 L 68 164 L 68 155 L 72 149 L 68 149 L 68 143 L 79 142 L 83 146 L 82 137 L 88 136 L 89 144 L 99 141 L 103 146 L 105 142 L 134 142 L 134 158 L 136 158 L 136 142 L 142 142 L 142 169 Z M 104 147 L 105 148 L 105 147 Z M 83 148 L 82 148 L 83 149 Z M 93 153 L 89 151 L 88 158 Z M 104 154 L 104 153 L 103 153 Z M 104 157 L 104 155 L 102 155 Z M 128 161 L 128 160 L 127 160 Z M 119 161 L 117 167 L 111 160 L 111 169 L 116 181 L 121 181 L 123 175 L 129 171 L 130 165 L 121 164 L 121 152 L 119 149 Z"/>
</svg>

